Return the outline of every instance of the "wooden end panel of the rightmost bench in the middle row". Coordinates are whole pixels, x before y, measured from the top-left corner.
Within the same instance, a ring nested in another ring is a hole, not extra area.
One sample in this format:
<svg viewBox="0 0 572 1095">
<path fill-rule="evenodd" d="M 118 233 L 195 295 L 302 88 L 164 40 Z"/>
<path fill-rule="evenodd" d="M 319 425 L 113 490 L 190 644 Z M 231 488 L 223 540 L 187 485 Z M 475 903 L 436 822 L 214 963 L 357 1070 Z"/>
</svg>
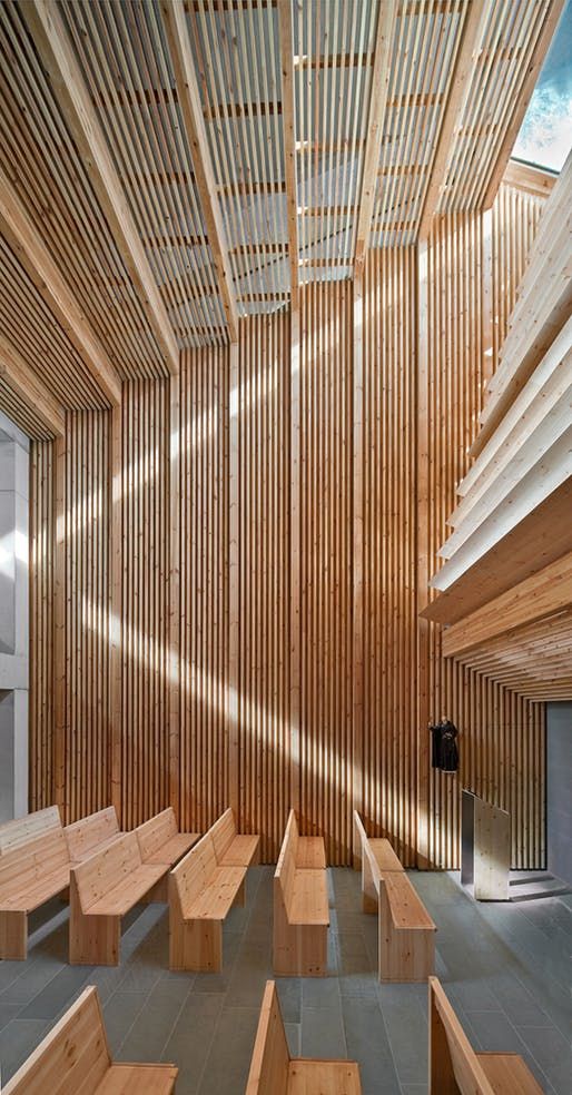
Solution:
<svg viewBox="0 0 572 1095">
<path fill-rule="evenodd" d="M 381 981 L 426 981 L 435 973 L 435 933 L 424 928 L 394 928 L 391 915 L 378 915 Z"/>
</svg>

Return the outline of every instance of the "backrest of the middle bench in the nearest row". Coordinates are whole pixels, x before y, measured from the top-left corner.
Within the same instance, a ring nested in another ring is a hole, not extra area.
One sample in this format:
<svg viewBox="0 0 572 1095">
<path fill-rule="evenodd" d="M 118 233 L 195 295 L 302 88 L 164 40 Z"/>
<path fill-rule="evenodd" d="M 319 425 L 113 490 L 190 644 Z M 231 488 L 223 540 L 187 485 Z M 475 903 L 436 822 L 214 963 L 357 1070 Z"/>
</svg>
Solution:
<svg viewBox="0 0 572 1095">
<path fill-rule="evenodd" d="M 246 1095 L 286 1095 L 289 1063 L 276 984 L 266 981 Z"/>
</svg>

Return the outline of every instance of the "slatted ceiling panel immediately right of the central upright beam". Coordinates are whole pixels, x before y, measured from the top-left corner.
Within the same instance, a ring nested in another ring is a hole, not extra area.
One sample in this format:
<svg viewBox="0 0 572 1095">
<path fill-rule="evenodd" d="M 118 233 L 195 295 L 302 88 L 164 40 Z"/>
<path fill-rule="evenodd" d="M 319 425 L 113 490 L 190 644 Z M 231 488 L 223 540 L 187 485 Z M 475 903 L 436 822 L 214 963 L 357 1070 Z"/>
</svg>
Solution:
<svg viewBox="0 0 572 1095">
<path fill-rule="evenodd" d="M 317 0 L 293 12 L 294 55 L 304 62 L 295 67 L 300 256 L 352 264 L 377 6 Z M 332 65 L 338 55 L 351 63 Z M 344 276 L 310 267 L 304 278 Z"/>
</svg>

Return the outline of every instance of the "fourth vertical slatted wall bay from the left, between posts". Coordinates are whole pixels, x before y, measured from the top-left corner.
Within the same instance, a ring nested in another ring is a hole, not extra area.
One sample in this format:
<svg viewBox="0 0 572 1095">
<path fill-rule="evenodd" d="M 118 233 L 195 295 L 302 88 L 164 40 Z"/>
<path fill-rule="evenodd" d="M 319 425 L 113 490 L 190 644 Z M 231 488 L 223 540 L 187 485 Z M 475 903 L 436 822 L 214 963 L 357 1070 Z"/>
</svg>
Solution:
<svg viewBox="0 0 572 1095">
<path fill-rule="evenodd" d="M 180 762 L 180 822 L 196 831 L 211 825 L 229 802 L 228 348 L 187 352 L 178 383 L 178 546 L 172 545 L 171 558 L 179 553 L 179 621 L 174 624 L 180 628 L 180 722 L 174 746 Z M 177 446 L 175 423 L 171 453 L 174 441 Z"/>
</svg>

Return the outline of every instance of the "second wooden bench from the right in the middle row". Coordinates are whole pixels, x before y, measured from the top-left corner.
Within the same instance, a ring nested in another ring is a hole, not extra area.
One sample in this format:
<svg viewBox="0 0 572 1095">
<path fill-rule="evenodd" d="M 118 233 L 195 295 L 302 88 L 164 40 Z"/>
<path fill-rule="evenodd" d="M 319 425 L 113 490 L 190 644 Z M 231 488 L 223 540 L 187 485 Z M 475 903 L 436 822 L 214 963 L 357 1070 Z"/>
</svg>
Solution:
<svg viewBox="0 0 572 1095">
<path fill-rule="evenodd" d="M 290 810 L 274 875 L 274 971 L 282 977 L 327 973 L 329 910 L 326 870 L 299 867 L 298 826 Z"/>
</svg>

